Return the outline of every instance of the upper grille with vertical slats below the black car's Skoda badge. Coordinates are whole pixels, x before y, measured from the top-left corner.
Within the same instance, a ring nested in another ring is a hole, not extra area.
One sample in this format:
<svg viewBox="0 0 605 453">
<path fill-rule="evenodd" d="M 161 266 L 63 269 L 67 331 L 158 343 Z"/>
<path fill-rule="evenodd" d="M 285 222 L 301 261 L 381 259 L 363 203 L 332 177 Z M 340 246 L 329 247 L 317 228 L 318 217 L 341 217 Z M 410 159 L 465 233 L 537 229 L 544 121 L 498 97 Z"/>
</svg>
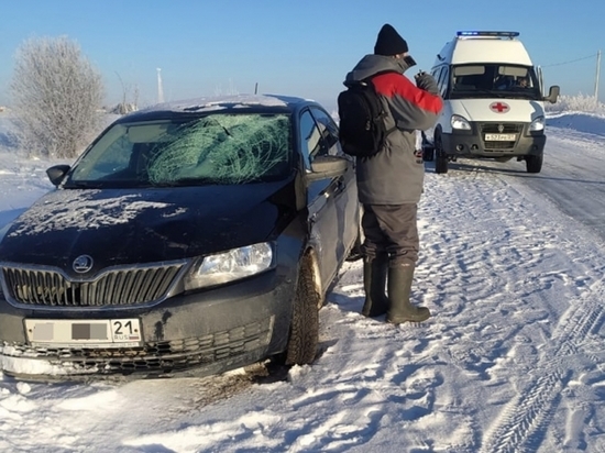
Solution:
<svg viewBox="0 0 605 453">
<path fill-rule="evenodd" d="M 94 280 L 74 281 L 58 270 L 2 267 L 7 297 L 42 307 L 105 307 L 148 303 L 166 296 L 185 263 L 119 268 Z"/>
</svg>

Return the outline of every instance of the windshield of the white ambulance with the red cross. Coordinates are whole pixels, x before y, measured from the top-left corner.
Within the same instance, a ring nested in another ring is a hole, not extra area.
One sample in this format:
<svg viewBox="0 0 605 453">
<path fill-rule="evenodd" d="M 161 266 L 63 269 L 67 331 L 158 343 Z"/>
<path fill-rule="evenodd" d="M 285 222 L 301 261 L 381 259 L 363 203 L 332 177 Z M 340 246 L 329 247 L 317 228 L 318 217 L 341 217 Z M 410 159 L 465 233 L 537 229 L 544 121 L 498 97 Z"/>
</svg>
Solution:
<svg viewBox="0 0 605 453">
<path fill-rule="evenodd" d="M 530 66 L 473 64 L 453 66 L 450 98 L 540 100 L 541 96 L 536 73 Z"/>
</svg>

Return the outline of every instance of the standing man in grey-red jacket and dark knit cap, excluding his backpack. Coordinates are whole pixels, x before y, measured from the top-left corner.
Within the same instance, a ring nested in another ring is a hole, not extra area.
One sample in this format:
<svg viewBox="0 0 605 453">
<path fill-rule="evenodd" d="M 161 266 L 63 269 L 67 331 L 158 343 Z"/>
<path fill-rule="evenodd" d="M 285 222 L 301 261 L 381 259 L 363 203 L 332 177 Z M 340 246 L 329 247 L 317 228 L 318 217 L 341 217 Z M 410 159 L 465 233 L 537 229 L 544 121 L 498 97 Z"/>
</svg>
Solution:
<svg viewBox="0 0 605 453">
<path fill-rule="evenodd" d="M 372 81 L 387 113 L 386 130 L 396 126 L 378 154 L 358 159 L 356 165 L 365 234 L 362 314 L 387 313 L 386 321 L 395 324 L 430 317 L 428 308 L 409 301 L 419 250 L 417 206 L 425 177 L 425 164 L 415 155 L 416 130 L 435 126 L 442 100 L 429 74 L 418 74 L 416 85 L 404 76 L 415 64 L 406 41 L 385 24 L 374 54 L 365 55 L 346 75 L 346 81 Z"/>
</svg>

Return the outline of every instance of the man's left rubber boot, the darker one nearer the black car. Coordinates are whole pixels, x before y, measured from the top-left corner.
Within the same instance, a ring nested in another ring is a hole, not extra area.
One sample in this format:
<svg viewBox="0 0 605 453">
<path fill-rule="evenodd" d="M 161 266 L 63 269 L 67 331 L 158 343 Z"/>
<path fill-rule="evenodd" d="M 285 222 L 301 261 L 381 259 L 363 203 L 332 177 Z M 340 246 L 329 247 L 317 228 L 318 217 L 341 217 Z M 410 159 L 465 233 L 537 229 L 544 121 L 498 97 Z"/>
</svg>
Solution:
<svg viewBox="0 0 605 453">
<path fill-rule="evenodd" d="M 364 317 L 380 317 L 388 310 L 388 299 L 385 295 L 388 256 L 378 255 L 372 261 L 363 261 L 363 287 L 365 302 L 361 313 Z"/>
</svg>

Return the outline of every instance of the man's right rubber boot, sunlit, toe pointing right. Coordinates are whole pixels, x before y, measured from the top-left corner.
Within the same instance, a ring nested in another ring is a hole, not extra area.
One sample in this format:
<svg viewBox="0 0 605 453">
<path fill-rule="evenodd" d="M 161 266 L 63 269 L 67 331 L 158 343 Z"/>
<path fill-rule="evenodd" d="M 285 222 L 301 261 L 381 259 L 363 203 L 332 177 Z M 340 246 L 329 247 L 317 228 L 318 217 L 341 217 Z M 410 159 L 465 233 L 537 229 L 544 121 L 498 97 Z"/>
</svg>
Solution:
<svg viewBox="0 0 605 453">
<path fill-rule="evenodd" d="M 430 318 L 427 307 L 415 307 L 409 302 L 414 266 L 397 265 L 388 268 L 388 300 L 391 306 L 386 322 L 422 322 Z"/>
</svg>

